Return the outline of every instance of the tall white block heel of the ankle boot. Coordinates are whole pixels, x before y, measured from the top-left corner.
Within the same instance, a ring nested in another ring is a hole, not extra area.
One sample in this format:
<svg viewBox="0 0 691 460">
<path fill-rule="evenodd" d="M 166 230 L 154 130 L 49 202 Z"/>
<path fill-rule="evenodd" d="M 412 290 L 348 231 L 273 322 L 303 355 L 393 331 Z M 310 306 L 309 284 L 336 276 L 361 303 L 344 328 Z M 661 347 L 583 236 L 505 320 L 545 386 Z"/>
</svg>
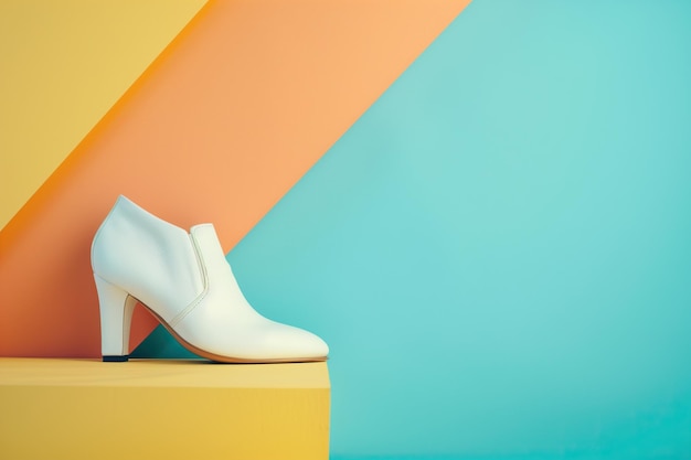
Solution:
<svg viewBox="0 0 691 460">
<path fill-rule="evenodd" d="M 129 327 L 137 299 L 94 274 L 100 308 L 100 352 L 104 362 L 125 362 L 129 353 Z"/>
</svg>

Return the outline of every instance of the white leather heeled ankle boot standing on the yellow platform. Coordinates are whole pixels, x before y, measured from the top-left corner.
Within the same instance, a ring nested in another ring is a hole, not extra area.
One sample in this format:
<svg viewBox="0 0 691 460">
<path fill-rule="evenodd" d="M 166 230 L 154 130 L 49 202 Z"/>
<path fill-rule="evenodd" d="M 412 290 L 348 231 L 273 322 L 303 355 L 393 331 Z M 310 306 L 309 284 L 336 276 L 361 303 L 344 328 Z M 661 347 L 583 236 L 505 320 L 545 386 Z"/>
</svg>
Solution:
<svg viewBox="0 0 691 460">
<path fill-rule="evenodd" d="M 329 353 L 317 335 L 252 308 L 212 224 L 188 233 L 120 196 L 94 237 L 92 267 L 104 361 L 127 361 L 137 300 L 184 347 L 213 361 L 323 361 Z"/>
</svg>

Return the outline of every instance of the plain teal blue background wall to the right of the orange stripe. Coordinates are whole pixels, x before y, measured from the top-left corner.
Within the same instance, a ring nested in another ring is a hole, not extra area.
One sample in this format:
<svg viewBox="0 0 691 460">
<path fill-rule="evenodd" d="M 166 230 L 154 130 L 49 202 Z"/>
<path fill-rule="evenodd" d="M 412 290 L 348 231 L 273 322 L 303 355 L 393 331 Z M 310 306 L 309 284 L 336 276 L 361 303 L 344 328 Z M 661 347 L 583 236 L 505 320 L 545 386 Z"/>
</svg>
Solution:
<svg viewBox="0 0 691 460">
<path fill-rule="evenodd" d="M 691 2 L 475 0 L 227 258 L 333 458 L 691 458 Z"/>
</svg>

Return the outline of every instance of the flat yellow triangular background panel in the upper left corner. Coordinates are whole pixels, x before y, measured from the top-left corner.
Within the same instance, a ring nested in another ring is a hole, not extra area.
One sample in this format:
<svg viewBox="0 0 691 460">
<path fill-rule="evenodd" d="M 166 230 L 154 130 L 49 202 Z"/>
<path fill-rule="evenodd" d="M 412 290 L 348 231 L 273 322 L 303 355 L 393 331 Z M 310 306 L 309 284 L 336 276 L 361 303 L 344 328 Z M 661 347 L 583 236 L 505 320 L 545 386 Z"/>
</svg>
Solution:
<svg viewBox="0 0 691 460">
<path fill-rule="evenodd" d="M 0 228 L 205 2 L 0 1 Z"/>
</svg>

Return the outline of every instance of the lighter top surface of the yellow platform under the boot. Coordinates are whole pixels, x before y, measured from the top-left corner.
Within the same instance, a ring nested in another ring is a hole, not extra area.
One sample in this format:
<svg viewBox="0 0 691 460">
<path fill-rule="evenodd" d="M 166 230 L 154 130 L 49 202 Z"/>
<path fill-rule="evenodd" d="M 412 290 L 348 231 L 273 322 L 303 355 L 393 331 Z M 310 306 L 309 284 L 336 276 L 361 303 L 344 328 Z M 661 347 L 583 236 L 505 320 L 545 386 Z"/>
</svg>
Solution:
<svg viewBox="0 0 691 460">
<path fill-rule="evenodd" d="M 0 357 L 1 386 L 330 388 L 326 362 L 215 364 L 201 360 Z"/>
</svg>

